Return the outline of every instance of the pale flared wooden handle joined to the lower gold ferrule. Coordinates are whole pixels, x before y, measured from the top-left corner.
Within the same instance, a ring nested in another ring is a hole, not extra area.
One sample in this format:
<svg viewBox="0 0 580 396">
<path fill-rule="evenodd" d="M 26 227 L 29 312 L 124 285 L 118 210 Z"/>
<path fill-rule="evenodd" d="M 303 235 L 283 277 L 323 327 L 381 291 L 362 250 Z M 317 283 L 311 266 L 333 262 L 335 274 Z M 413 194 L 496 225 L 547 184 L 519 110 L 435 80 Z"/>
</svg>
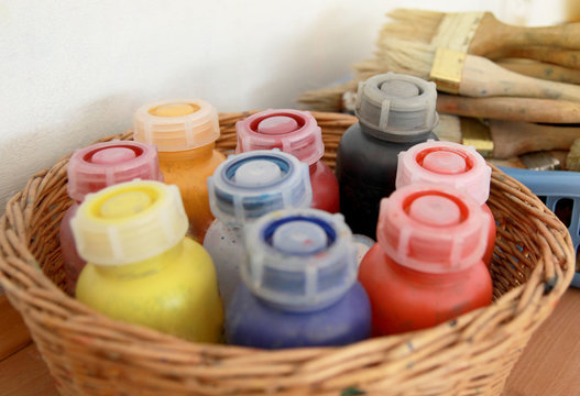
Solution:
<svg viewBox="0 0 580 396">
<path fill-rule="evenodd" d="M 523 76 L 475 55 L 466 57 L 459 94 L 475 98 L 508 96 L 580 102 L 580 86 Z"/>
</svg>

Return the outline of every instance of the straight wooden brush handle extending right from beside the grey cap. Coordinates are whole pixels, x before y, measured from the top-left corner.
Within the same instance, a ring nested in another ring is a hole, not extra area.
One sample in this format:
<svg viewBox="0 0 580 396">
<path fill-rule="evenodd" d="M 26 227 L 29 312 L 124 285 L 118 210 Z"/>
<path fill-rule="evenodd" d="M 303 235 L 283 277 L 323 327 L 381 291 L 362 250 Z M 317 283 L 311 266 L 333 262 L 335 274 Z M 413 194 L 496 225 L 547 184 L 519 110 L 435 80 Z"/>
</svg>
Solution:
<svg viewBox="0 0 580 396">
<path fill-rule="evenodd" d="M 580 103 L 530 98 L 466 98 L 456 95 L 438 94 L 437 111 L 497 120 L 579 123 Z"/>
</svg>

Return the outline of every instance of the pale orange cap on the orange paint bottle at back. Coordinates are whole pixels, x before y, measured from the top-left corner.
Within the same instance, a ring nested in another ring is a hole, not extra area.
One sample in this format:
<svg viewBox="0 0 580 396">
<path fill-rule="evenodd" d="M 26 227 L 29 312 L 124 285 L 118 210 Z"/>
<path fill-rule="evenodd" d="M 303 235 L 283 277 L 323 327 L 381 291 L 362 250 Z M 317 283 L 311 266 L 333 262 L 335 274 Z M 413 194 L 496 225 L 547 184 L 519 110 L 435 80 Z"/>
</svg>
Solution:
<svg viewBox="0 0 580 396">
<path fill-rule="evenodd" d="M 156 144 L 160 152 L 197 148 L 219 138 L 218 111 L 199 99 L 145 105 L 133 116 L 133 138 Z"/>
</svg>

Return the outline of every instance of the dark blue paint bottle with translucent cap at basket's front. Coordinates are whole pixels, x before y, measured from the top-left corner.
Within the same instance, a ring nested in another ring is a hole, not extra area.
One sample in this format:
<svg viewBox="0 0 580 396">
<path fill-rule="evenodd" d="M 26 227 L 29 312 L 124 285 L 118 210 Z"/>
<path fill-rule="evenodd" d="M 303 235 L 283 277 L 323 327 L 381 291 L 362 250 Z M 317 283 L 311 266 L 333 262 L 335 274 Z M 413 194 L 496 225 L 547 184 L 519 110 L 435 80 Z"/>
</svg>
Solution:
<svg viewBox="0 0 580 396">
<path fill-rule="evenodd" d="M 243 282 L 226 310 L 228 342 L 264 349 L 344 345 L 366 339 L 369 298 L 341 215 L 271 212 L 244 229 Z"/>
</svg>

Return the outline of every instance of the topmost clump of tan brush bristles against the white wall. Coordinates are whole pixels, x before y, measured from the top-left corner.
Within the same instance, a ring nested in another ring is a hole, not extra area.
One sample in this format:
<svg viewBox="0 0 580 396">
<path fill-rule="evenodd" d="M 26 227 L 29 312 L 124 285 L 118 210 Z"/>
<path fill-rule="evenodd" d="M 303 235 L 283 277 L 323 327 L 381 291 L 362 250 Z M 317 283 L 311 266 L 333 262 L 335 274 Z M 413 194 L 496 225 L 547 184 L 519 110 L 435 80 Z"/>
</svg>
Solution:
<svg viewBox="0 0 580 396">
<path fill-rule="evenodd" d="M 383 25 L 377 45 L 391 37 L 430 43 L 445 15 L 437 11 L 396 9 L 387 13 L 393 22 Z"/>
</svg>

